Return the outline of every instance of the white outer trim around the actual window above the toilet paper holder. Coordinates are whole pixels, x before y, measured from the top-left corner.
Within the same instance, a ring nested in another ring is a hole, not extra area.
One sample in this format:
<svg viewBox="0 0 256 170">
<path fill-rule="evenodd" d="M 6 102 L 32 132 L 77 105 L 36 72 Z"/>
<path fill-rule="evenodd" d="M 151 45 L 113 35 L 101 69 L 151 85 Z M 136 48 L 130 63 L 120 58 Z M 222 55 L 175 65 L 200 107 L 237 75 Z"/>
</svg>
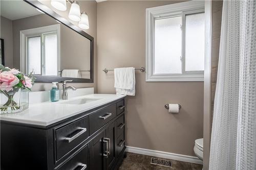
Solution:
<svg viewBox="0 0 256 170">
<path fill-rule="evenodd" d="M 182 15 L 180 11 L 201 11 L 204 1 L 189 1 L 146 9 L 146 82 L 204 81 L 203 71 L 186 71 L 186 74 L 154 74 L 154 18 Z M 184 21 L 184 19 L 183 19 Z M 183 24 L 183 23 L 182 23 Z M 184 25 L 183 25 L 184 26 Z M 184 31 L 184 29 L 183 29 Z M 182 37 L 183 39 L 183 37 Z M 183 43 L 184 41 L 182 41 Z M 184 50 L 182 50 L 184 51 Z M 183 62 L 184 63 L 184 62 Z M 184 66 L 183 68 L 184 69 Z"/>
</svg>

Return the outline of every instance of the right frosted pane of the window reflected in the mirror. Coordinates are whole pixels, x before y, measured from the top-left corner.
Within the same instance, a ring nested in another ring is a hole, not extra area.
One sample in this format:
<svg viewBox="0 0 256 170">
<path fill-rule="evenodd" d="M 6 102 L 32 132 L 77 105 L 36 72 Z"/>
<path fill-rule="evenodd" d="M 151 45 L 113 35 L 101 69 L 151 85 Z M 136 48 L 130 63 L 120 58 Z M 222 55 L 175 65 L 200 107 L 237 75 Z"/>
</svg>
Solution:
<svg viewBox="0 0 256 170">
<path fill-rule="evenodd" d="M 46 76 L 57 76 L 57 34 L 45 36 Z"/>
</svg>

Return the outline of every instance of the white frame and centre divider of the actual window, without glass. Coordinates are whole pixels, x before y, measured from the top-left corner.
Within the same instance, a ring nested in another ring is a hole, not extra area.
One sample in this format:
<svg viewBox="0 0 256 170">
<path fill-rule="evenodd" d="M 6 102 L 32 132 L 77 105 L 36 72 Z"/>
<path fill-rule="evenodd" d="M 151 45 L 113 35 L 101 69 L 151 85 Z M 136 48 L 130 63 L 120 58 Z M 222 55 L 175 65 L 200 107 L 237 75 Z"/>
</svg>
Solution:
<svg viewBox="0 0 256 170">
<path fill-rule="evenodd" d="M 204 13 L 203 1 L 189 1 L 146 9 L 146 82 L 204 81 L 204 71 L 185 71 L 185 16 Z M 154 74 L 155 72 L 155 20 L 182 16 L 181 74 Z"/>
</svg>

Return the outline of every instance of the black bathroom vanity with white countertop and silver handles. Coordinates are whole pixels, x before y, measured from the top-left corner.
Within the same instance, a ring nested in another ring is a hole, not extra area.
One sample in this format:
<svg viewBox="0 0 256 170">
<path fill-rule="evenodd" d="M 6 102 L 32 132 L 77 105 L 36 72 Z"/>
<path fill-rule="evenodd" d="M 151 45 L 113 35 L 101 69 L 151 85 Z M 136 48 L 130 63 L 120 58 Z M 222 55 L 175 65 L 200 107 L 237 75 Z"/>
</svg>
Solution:
<svg viewBox="0 0 256 170">
<path fill-rule="evenodd" d="M 124 97 L 89 94 L 1 115 L 1 169 L 118 169 Z"/>
</svg>

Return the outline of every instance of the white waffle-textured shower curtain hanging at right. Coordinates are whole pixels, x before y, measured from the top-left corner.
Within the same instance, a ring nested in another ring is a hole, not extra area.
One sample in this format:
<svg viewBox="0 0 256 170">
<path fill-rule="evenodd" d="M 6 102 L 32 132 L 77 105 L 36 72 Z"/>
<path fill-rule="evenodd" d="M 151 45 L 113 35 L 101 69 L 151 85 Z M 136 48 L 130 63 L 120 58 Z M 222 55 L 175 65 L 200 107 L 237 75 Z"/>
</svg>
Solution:
<svg viewBox="0 0 256 170">
<path fill-rule="evenodd" d="M 209 169 L 256 169 L 256 1 L 224 1 Z"/>
</svg>

